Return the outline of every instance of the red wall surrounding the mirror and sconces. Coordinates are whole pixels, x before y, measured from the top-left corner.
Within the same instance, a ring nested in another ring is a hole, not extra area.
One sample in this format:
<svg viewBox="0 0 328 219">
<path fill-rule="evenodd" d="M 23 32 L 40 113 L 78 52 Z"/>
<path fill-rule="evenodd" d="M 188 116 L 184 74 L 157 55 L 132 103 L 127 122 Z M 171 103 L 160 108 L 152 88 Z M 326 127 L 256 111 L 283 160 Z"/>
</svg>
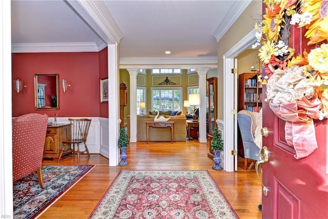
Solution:
<svg viewBox="0 0 328 219">
<path fill-rule="evenodd" d="M 106 50 L 106 52 L 104 52 Z M 59 117 L 98 117 L 100 114 L 99 79 L 107 69 L 107 48 L 100 52 L 67 53 L 12 53 L 12 79 L 23 81 L 19 94 L 12 89 L 12 116 L 30 112 L 47 113 L 50 117 L 57 113 Z M 106 68 L 105 68 L 106 67 Z M 101 75 L 100 75 L 101 69 Z M 35 110 L 34 74 L 58 74 L 66 79 L 71 87 L 66 94 L 59 85 L 59 110 Z M 107 104 L 108 106 L 108 104 Z M 101 110 L 103 111 L 103 110 Z M 108 110 L 107 110 L 108 111 Z M 108 117 L 102 116 L 102 117 Z"/>
</svg>

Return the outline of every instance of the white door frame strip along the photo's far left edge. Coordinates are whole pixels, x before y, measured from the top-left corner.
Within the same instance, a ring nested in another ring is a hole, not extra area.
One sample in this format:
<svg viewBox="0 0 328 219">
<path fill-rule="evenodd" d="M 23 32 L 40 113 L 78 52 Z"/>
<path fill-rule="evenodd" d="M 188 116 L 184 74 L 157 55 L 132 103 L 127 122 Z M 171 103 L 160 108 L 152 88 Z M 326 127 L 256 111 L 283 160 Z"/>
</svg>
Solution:
<svg viewBox="0 0 328 219">
<path fill-rule="evenodd" d="M 11 2 L 0 2 L 0 215 L 13 218 Z"/>
</svg>

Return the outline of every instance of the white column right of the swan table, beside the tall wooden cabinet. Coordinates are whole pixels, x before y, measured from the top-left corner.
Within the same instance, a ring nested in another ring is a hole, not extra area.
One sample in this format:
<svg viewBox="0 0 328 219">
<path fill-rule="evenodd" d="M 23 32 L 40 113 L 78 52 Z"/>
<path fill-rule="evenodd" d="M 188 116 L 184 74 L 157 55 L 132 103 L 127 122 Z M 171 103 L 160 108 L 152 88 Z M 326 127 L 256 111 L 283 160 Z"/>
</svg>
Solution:
<svg viewBox="0 0 328 219">
<path fill-rule="evenodd" d="M 209 70 L 209 67 L 196 68 L 198 73 L 198 90 L 200 96 L 200 105 L 199 105 L 199 136 L 198 142 L 207 143 L 206 138 L 206 73 Z"/>
</svg>

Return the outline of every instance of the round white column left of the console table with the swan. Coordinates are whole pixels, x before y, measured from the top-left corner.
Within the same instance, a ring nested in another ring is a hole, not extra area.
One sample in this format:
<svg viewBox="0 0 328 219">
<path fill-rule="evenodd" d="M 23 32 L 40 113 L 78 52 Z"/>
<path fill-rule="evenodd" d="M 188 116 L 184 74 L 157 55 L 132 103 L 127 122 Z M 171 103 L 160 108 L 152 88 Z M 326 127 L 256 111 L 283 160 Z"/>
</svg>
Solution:
<svg viewBox="0 0 328 219">
<path fill-rule="evenodd" d="M 137 74 L 139 68 L 127 68 L 130 74 L 130 142 L 137 139 Z"/>
</svg>

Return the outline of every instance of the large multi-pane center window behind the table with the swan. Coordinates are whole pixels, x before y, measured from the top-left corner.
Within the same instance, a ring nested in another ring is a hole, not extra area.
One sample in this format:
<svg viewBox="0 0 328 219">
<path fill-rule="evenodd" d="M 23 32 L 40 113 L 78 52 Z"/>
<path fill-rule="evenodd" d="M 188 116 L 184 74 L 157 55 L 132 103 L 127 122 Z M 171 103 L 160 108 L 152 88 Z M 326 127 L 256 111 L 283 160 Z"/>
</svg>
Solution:
<svg viewBox="0 0 328 219">
<path fill-rule="evenodd" d="M 152 110 L 181 110 L 182 88 L 152 88 Z"/>
</svg>

